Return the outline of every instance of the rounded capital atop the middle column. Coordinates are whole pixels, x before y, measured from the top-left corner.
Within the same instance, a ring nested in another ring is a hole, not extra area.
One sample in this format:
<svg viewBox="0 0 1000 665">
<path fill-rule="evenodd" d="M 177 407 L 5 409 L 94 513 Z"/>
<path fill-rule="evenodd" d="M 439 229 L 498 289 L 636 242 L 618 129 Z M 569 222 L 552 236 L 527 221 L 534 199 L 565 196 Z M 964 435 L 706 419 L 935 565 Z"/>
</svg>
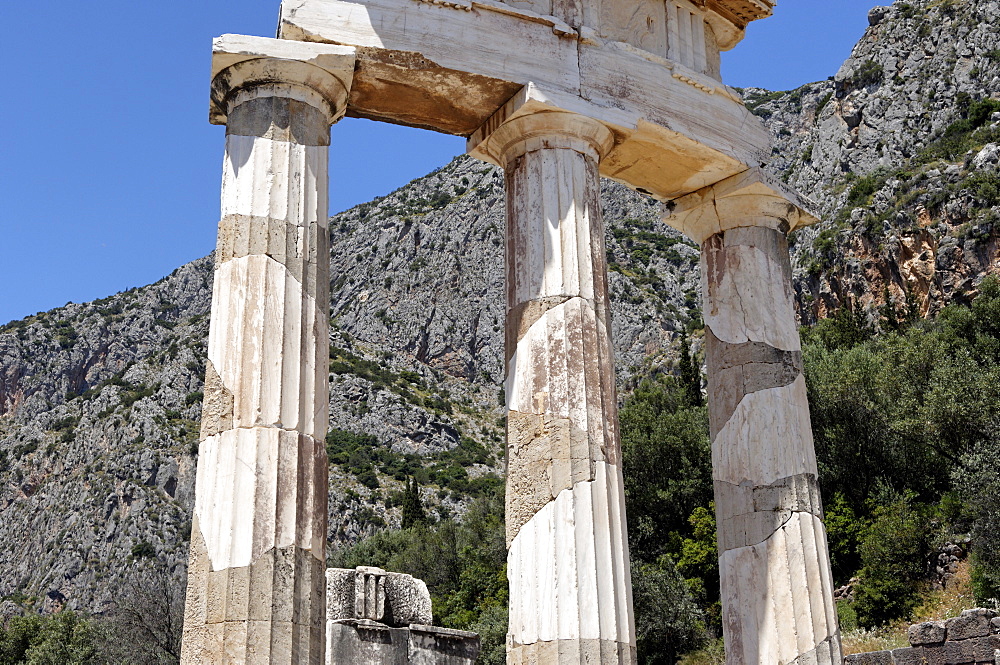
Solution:
<svg viewBox="0 0 1000 665">
<path fill-rule="evenodd" d="M 615 143 L 603 123 L 566 111 L 518 115 L 480 132 L 484 138 L 478 149 L 505 168 L 525 153 L 543 148 L 576 150 L 600 162 Z"/>
</svg>

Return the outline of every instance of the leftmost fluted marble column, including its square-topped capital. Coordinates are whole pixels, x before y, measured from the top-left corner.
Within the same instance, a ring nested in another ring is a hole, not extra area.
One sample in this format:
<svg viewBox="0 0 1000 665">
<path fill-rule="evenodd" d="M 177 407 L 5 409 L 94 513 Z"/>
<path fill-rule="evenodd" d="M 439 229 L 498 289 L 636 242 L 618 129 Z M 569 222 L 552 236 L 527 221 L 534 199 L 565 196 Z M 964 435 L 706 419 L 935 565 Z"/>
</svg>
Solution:
<svg viewBox="0 0 1000 665">
<path fill-rule="evenodd" d="M 325 648 L 330 125 L 353 49 L 216 40 L 226 124 L 181 662 Z"/>
</svg>

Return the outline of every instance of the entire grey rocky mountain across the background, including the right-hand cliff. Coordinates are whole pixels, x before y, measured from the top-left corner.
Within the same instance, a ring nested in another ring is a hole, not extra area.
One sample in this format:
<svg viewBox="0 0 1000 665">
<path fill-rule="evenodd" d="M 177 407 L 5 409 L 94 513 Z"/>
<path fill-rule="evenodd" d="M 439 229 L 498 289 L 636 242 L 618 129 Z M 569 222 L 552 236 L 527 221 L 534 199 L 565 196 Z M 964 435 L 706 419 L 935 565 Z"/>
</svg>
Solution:
<svg viewBox="0 0 1000 665">
<path fill-rule="evenodd" d="M 1000 271 L 1000 2 L 869 19 L 830 80 L 744 91 L 770 168 L 826 218 L 793 243 L 806 323 L 929 315 Z M 602 196 L 626 394 L 698 327 L 698 250 L 658 203 Z M 499 482 L 503 205 L 502 174 L 459 157 L 331 220 L 334 546 L 398 524 L 406 474 L 439 515 Z M 211 272 L 0 327 L 0 613 L 100 611 L 137 570 L 183 580 Z"/>
</svg>

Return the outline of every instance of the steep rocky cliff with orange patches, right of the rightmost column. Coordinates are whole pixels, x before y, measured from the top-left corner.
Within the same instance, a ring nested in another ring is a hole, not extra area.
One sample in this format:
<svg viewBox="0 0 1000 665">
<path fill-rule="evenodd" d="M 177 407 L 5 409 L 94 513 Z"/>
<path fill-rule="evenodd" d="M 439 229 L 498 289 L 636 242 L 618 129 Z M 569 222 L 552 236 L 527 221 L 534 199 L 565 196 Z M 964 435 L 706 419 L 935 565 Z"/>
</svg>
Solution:
<svg viewBox="0 0 1000 665">
<path fill-rule="evenodd" d="M 770 167 L 826 219 L 793 248 L 805 322 L 844 305 L 876 321 L 887 301 L 927 316 L 1000 272 L 1000 2 L 898 1 L 868 21 L 829 80 L 745 91 Z"/>
</svg>

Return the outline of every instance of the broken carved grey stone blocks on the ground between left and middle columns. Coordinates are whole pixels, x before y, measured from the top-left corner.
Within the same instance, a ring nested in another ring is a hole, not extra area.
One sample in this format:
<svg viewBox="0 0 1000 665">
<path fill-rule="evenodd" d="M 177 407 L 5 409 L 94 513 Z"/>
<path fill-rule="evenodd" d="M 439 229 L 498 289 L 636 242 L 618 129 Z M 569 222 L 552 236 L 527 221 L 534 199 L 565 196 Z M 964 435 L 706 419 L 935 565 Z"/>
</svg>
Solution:
<svg viewBox="0 0 1000 665">
<path fill-rule="evenodd" d="M 329 568 L 327 665 L 472 665 L 479 636 L 431 625 L 422 580 L 367 566 Z"/>
</svg>

